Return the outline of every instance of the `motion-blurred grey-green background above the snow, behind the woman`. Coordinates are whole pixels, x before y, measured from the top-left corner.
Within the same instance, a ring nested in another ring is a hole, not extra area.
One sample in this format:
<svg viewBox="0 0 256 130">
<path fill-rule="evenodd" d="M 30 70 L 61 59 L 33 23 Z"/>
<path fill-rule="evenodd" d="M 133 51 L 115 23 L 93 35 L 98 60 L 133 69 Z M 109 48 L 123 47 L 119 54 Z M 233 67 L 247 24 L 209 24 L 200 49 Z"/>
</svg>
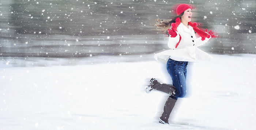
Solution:
<svg viewBox="0 0 256 130">
<path fill-rule="evenodd" d="M 77 46 L 89 44 L 86 46 L 88 49 L 93 45 L 99 47 L 102 43 L 106 46 L 114 44 L 105 48 L 111 53 L 116 51 L 117 54 L 121 51 L 132 54 L 141 51 L 138 49 L 139 46 L 146 48 L 144 44 L 153 43 L 147 51 L 155 52 L 158 48 L 156 46 L 165 43 L 159 39 L 166 40 L 162 32 L 155 30 L 156 19 L 170 19 L 175 16 L 172 7 L 178 3 L 193 4 L 196 8 L 192 10 L 192 22 L 202 23 L 202 28 L 212 29 L 221 36 L 211 39 L 204 47 L 206 50 L 220 54 L 256 53 L 255 0 L 10 0 L 8 3 L 7 0 L 4 1 L 5 3 L 0 5 L 0 29 L 4 28 L 4 31 L 0 31 L 0 53 L 10 54 L 11 51 L 29 48 L 22 53 L 33 53 L 33 56 L 34 53 L 37 56 L 42 56 L 41 53 L 47 53 L 48 56 L 52 53 L 55 56 L 58 53 L 56 56 L 60 56 L 59 53 L 65 51 L 64 56 L 71 47 L 76 52 Z M 127 44 L 127 48 L 122 48 L 124 45 L 121 44 L 125 40 L 137 45 Z M 71 42 L 73 46 L 67 42 Z M 135 49 L 129 50 L 130 47 Z M 99 49 L 94 50 L 95 53 L 99 53 Z"/>
</svg>

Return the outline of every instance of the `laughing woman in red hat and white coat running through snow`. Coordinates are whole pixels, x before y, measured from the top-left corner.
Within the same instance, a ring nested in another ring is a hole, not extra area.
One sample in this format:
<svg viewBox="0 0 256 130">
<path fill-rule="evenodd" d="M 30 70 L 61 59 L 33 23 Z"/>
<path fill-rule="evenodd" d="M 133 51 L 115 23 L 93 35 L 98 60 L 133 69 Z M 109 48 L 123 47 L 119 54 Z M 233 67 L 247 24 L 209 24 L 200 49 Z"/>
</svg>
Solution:
<svg viewBox="0 0 256 130">
<path fill-rule="evenodd" d="M 146 92 L 153 89 L 168 93 L 163 114 L 159 118 L 159 123 L 169 124 L 170 113 L 178 98 L 184 98 L 187 92 L 187 65 L 188 62 L 198 60 L 210 60 L 212 57 L 197 47 L 206 43 L 210 38 L 215 37 L 211 31 L 197 28 L 197 23 L 192 23 L 192 7 L 188 4 L 180 4 L 176 8 L 177 16 L 170 20 L 161 21 L 157 19 L 158 30 L 163 30 L 169 35 L 168 47 L 170 50 L 155 54 L 157 61 L 165 61 L 167 72 L 170 74 L 173 85 L 159 83 L 155 79 L 150 80 L 150 85 Z M 196 38 L 195 32 L 200 36 Z"/>
</svg>

